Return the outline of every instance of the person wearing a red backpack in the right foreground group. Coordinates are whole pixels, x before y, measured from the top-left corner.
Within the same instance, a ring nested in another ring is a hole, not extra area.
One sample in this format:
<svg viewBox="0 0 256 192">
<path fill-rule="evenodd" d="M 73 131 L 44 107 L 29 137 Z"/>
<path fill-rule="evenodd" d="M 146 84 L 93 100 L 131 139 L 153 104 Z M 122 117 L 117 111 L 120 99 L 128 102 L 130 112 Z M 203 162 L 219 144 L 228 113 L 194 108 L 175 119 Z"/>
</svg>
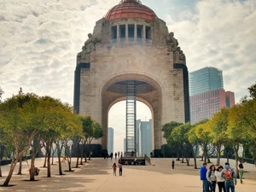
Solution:
<svg viewBox="0 0 256 192">
<path fill-rule="evenodd" d="M 236 173 L 234 169 L 230 167 L 230 163 L 226 162 L 224 170 L 221 172 L 221 177 L 224 178 L 226 192 L 235 192 L 235 185 L 237 183 Z"/>
</svg>

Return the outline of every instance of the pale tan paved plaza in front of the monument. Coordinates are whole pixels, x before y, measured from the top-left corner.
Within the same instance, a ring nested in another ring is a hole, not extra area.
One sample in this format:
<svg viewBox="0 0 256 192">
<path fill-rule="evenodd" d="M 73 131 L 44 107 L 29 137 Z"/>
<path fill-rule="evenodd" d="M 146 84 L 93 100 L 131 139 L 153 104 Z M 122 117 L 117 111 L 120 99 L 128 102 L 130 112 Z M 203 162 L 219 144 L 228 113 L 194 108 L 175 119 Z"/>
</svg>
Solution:
<svg viewBox="0 0 256 192">
<path fill-rule="evenodd" d="M 59 176 L 58 166 L 51 166 L 52 177 L 46 176 L 46 168 L 40 168 L 41 172 L 36 178 L 38 181 L 26 181 L 29 178 L 28 166 L 23 162 L 23 175 L 12 177 L 10 184 L 15 186 L 0 188 L 0 191 L 83 191 L 83 192 L 200 192 L 201 181 L 198 170 L 193 166 L 186 166 L 176 161 L 175 169 L 171 169 L 172 159 L 153 159 L 155 166 L 123 166 L 123 176 L 113 176 L 111 166 L 115 160 L 92 159 L 90 163 L 73 169 L 74 172 L 65 172 Z M 213 160 L 215 162 L 215 160 Z M 36 166 L 42 166 L 43 159 L 36 160 Z M 192 163 L 192 160 L 191 160 Z M 233 166 L 234 161 L 230 162 Z M 224 164 L 224 160 L 222 160 Z M 67 170 L 67 162 L 62 163 L 63 170 Z M 199 161 L 199 166 L 201 162 Z M 17 168 L 15 172 L 17 172 Z M 9 166 L 2 166 L 3 183 Z M 246 179 L 244 184 L 236 185 L 236 192 L 255 192 L 256 168 L 253 165 L 245 165 Z M 217 189 L 218 191 L 218 189 Z"/>
</svg>

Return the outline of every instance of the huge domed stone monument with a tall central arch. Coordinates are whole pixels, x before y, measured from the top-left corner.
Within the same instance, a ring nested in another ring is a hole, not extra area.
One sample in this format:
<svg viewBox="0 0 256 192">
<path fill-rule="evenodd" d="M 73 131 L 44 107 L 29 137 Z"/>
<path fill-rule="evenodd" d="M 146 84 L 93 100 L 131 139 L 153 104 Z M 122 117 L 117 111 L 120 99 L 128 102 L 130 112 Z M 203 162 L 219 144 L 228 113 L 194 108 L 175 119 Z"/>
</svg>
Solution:
<svg viewBox="0 0 256 192">
<path fill-rule="evenodd" d="M 154 155 L 167 156 L 162 125 L 189 121 L 186 58 L 173 32 L 138 0 L 122 0 L 96 21 L 77 55 L 74 107 L 102 125 L 93 154 L 108 148 L 108 111 L 125 100 L 125 82 L 136 81 L 137 101 L 152 112 Z"/>
</svg>

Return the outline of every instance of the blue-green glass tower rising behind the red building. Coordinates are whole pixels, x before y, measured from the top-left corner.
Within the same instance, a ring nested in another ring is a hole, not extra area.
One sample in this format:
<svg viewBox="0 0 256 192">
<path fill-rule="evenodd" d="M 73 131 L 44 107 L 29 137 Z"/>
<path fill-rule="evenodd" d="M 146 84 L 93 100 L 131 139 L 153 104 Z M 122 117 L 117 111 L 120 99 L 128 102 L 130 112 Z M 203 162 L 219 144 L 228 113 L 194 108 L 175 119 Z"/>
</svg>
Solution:
<svg viewBox="0 0 256 192">
<path fill-rule="evenodd" d="M 215 67 L 204 67 L 189 73 L 189 95 L 206 92 L 208 90 L 223 89 L 222 71 Z"/>
</svg>

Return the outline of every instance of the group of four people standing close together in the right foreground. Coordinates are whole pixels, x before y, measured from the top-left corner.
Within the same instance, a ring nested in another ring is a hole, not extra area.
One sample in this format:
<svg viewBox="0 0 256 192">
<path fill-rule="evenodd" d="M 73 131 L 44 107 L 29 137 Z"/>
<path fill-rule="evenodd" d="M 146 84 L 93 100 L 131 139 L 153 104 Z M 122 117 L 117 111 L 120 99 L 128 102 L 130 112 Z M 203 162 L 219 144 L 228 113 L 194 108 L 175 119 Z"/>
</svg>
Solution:
<svg viewBox="0 0 256 192">
<path fill-rule="evenodd" d="M 236 173 L 228 162 L 225 163 L 224 167 L 218 166 L 216 168 L 212 165 L 209 169 L 207 168 L 207 163 L 204 163 L 200 168 L 200 176 L 203 192 L 215 192 L 216 184 L 218 184 L 218 192 L 230 192 L 230 189 L 231 192 L 235 192 L 235 185 L 237 183 Z"/>
</svg>

